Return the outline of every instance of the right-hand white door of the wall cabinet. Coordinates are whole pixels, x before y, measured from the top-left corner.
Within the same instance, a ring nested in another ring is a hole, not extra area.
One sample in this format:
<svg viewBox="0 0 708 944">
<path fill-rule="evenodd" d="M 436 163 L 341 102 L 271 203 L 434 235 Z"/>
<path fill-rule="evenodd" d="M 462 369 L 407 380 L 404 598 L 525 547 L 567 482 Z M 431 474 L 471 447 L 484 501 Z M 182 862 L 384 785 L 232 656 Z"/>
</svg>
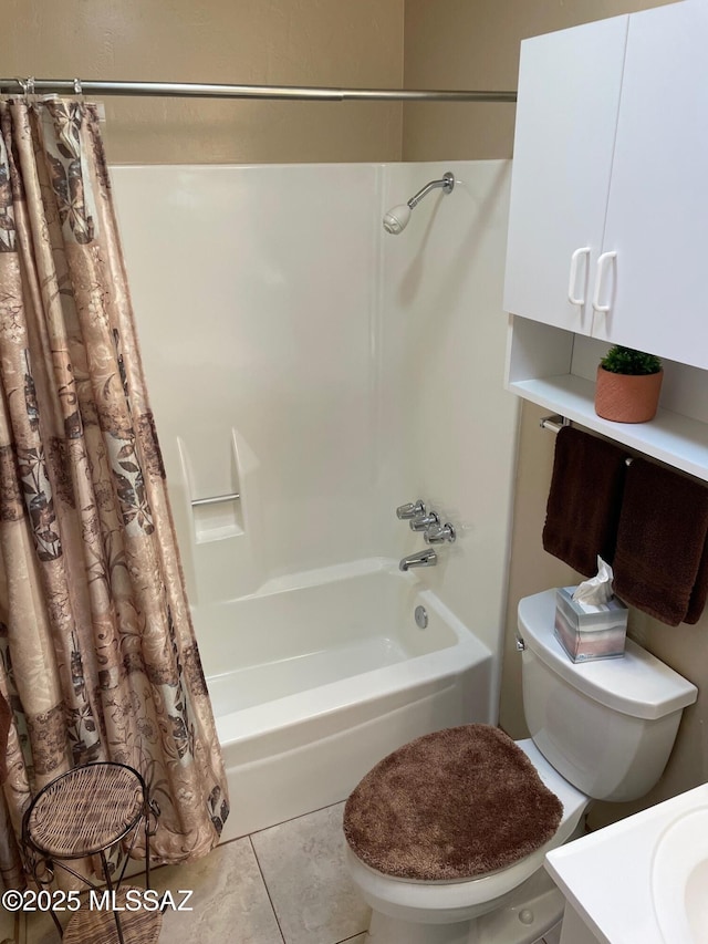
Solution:
<svg viewBox="0 0 708 944">
<path fill-rule="evenodd" d="M 594 333 L 708 367 L 708 3 L 629 18 Z"/>
</svg>

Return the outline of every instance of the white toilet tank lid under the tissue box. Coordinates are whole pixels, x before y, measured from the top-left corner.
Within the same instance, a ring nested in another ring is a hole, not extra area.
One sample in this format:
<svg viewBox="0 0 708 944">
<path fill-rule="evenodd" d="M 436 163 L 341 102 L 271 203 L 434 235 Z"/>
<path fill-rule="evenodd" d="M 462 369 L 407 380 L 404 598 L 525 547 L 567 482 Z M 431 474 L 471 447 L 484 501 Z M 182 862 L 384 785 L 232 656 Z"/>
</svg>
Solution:
<svg viewBox="0 0 708 944">
<path fill-rule="evenodd" d="M 698 697 L 698 689 L 632 640 L 620 658 L 571 662 L 553 633 L 555 590 L 519 601 L 519 631 L 525 645 L 553 672 L 608 708 L 636 718 L 662 718 Z"/>
</svg>

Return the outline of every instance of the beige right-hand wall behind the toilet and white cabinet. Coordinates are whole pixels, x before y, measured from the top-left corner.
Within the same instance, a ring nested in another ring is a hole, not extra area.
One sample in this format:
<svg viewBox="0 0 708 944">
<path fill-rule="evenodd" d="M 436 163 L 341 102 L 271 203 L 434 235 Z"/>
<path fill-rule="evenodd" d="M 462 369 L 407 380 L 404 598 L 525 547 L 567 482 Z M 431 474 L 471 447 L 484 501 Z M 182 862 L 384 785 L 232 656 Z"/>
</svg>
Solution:
<svg viewBox="0 0 708 944">
<path fill-rule="evenodd" d="M 406 87 L 516 89 L 519 43 L 524 37 L 590 20 L 658 7 L 653 0 L 406 0 Z M 406 105 L 404 159 L 506 157 L 513 145 L 511 105 Z M 539 427 L 543 411 L 524 404 L 517 469 L 514 526 L 509 572 L 501 724 L 528 734 L 521 705 L 520 660 L 514 645 L 516 608 L 529 593 L 574 583 L 577 574 L 541 546 L 553 463 L 554 436 Z M 671 629 L 634 611 L 631 635 L 699 688 L 708 689 L 708 615 L 697 626 Z M 600 826 L 650 801 L 708 780 L 708 697 L 684 716 L 671 760 L 657 788 L 636 805 L 596 805 Z"/>
</svg>

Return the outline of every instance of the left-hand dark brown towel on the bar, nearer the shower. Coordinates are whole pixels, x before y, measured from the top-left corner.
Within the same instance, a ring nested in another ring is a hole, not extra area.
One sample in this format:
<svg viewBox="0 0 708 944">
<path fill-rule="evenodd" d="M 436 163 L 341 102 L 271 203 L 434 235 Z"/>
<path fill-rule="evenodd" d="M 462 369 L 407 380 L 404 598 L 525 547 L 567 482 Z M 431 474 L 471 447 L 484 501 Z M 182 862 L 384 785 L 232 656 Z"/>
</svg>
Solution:
<svg viewBox="0 0 708 944">
<path fill-rule="evenodd" d="M 574 570 L 612 563 L 626 475 L 626 450 L 572 426 L 559 430 L 543 547 Z"/>
</svg>

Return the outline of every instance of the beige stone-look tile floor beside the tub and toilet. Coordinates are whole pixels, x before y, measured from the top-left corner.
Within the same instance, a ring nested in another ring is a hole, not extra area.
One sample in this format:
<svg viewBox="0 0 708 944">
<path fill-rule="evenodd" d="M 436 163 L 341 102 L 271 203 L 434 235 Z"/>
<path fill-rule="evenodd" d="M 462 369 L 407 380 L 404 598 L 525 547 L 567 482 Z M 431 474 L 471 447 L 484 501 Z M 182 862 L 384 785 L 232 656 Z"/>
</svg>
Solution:
<svg viewBox="0 0 708 944">
<path fill-rule="evenodd" d="M 180 889 L 194 891 L 192 911 L 166 912 L 160 944 L 364 944 L 369 910 L 346 873 L 343 809 L 237 839 L 190 865 L 156 869 L 160 893 L 178 902 Z M 32 915 L 14 940 L 59 944 L 48 915 Z M 560 932 L 545 941 L 559 944 Z"/>
</svg>

